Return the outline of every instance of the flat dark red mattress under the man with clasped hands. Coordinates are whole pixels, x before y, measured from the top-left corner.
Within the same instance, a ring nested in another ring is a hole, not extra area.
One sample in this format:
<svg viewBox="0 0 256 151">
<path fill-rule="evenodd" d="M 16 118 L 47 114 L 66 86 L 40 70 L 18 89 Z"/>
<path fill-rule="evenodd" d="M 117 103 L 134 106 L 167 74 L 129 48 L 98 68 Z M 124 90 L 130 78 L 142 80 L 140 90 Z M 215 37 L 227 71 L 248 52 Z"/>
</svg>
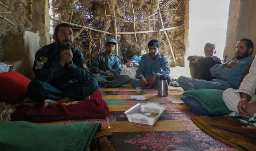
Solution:
<svg viewBox="0 0 256 151">
<path fill-rule="evenodd" d="M 41 104 L 17 106 L 16 111 L 11 115 L 11 120 L 46 122 L 77 118 L 105 119 L 110 115 L 107 103 L 101 98 L 98 90 L 90 97 L 91 100 L 79 101 L 76 104 L 52 105 L 45 108 Z"/>
</svg>

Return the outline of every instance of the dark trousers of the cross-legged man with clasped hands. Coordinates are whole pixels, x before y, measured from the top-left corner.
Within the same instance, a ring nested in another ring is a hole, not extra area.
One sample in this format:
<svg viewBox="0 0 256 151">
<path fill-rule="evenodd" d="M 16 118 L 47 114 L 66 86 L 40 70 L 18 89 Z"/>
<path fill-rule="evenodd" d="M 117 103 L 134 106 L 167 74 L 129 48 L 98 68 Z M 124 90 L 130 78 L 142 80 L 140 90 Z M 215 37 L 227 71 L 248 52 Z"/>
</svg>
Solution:
<svg viewBox="0 0 256 151">
<path fill-rule="evenodd" d="M 52 86 L 48 82 L 31 80 L 27 89 L 27 97 L 36 102 L 43 102 L 45 99 L 61 100 L 69 97 L 72 101 L 83 100 L 91 95 L 98 88 L 98 82 L 94 78 L 73 83 Z"/>
</svg>

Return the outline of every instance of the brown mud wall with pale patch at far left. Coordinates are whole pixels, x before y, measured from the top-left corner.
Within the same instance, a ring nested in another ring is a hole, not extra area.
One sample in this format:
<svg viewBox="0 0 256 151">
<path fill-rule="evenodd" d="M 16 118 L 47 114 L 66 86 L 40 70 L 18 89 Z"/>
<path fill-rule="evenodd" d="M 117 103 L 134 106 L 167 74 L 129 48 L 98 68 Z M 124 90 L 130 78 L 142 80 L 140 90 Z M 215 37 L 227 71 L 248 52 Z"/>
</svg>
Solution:
<svg viewBox="0 0 256 151">
<path fill-rule="evenodd" d="M 49 1 L 27 0 L 27 2 L 27 7 L 22 9 L 23 18 L 21 16 L 15 18 L 16 22 L 26 20 L 26 24 L 20 25 L 23 28 L 18 28 L 18 31 L 7 31 L 3 34 L 1 50 L 3 56 L 0 55 L 0 62 L 13 65 L 14 71 L 33 79 L 32 66 L 35 53 L 42 46 L 49 44 L 51 39 Z M 16 4 L 12 5 L 16 6 Z"/>
</svg>

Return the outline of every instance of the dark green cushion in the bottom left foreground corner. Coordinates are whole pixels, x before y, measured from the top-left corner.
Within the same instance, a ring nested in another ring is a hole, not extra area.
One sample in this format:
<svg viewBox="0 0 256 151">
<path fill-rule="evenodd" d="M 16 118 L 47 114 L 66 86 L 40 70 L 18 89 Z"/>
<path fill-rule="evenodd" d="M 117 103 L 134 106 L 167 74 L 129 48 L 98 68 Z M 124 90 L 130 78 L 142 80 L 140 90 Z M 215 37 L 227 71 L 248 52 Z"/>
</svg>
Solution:
<svg viewBox="0 0 256 151">
<path fill-rule="evenodd" d="M 37 125 L 25 121 L 0 122 L 1 151 L 83 151 L 101 124 Z"/>
</svg>

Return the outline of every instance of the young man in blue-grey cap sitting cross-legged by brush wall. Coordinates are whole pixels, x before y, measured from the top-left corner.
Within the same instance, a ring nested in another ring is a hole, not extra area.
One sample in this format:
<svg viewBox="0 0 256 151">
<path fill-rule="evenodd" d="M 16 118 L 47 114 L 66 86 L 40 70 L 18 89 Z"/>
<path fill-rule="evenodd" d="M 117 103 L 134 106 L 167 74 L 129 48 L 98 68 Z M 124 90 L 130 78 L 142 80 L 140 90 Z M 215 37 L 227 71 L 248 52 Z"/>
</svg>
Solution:
<svg viewBox="0 0 256 151">
<path fill-rule="evenodd" d="M 130 77 L 120 75 L 123 67 L 119 57 L 113 54 L 116 49 L 116 40 L 107 39 L 105 48 L 105 52 L 98 54 L 93 59 L 91 77 L 97 79 L 98 84 L 105 88 L 115 88 L 128 83 Z"/>
</svg>

